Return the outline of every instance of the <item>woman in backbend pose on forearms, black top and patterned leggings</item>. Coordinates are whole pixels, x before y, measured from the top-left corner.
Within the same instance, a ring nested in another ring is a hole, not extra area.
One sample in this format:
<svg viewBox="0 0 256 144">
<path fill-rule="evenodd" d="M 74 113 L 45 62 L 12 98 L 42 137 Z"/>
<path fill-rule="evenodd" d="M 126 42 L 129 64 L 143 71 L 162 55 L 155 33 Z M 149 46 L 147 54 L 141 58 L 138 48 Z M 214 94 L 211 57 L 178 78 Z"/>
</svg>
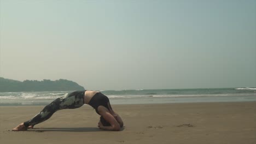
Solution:
<svg viewBox="0 0 256 144">
<path fill-rule="evenodd" d="M 49 119 L 54 112 L 62 109 L 76 109 L 84 104 L 94 107 L 101 115 L 98 127 L 104 130 L 120 130 L 124 123 L 121 117 L 112 110 L 106 95 L 97 91 L 75 91 L 57 98 L 29 121 L 19 124 L 14 131 L 32 129 L 34 125 Z"/>
</svg>

